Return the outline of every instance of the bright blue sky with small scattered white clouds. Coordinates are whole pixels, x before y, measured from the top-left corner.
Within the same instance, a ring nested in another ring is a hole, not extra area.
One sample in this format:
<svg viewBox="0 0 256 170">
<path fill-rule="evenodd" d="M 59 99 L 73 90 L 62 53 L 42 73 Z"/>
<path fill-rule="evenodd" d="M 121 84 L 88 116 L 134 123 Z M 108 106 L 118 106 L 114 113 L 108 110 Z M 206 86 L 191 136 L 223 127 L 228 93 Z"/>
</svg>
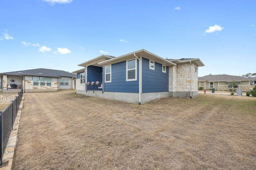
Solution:
<svg viewBox="0 0 256 170">
<path fill-rule="evenodd" d="M 75 71 L 145 49 L 199 58 L 198 76 L 256 72 L 254 0 L 1 0 L 0 72 Z"/>
</svg>

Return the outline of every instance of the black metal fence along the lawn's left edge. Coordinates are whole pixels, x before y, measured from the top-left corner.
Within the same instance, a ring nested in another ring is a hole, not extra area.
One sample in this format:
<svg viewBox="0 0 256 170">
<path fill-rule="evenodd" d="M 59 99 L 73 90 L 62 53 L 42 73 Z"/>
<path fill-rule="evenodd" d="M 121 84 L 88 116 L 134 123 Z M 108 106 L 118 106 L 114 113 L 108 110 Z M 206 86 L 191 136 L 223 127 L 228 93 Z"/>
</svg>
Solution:
<svg viewBox="0 0 256 170">
<path fill-rule="evenodd" d="M 16 119 L 20 102 L 23 96 L 23 90 L 22 89 L 18 89 L 18 90 L 19 92 L 17 97 L 3 111 L 0 111 L 0 151 L 1 151 L 0 165 L 3 164 L 2 159 L 3 159 L 4 151 L 8 144 L 8 140 L 12 132 L 14 121 Z"/>
</svg>

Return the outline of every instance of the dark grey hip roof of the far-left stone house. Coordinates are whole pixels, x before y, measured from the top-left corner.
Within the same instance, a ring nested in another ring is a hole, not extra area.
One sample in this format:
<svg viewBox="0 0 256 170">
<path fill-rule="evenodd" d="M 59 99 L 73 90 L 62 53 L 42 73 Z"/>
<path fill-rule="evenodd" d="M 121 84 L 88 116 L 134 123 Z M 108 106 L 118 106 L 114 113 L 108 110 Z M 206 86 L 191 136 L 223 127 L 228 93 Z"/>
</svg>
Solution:
<svg viewBox="0 0 256 170">
<path fill-rule="evenodd" d="M 62 70 L 52 70 L 52 69 L 46 69 L 46 68 L 37 68 L 37 69 L 32 69 L 32 70 L 22 70 L 22 71 L 14 71 L 14 72 L 4 72 L 4 73 L 0 73 L 0 75 L 76 78 L 76 74 L 73 74 L 71 72 L 66 72 L 66 71 L 62 71 Z"/>
</svg>

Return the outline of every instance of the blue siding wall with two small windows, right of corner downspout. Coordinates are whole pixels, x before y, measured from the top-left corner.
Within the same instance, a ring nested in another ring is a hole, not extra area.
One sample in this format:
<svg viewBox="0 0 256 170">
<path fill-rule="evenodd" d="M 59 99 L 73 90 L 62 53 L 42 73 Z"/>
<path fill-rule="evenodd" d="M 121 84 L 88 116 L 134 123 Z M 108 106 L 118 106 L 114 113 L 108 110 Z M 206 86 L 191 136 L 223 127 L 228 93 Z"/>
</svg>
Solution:
<svg viewBox="0 0 256 170">
<path fill-rule="evenodd" d="M 152 60 L 154 61 L 154 60 Z M 155 70 L 149 69 L 149 60 L 142 58 L 142 93 L 168 92 L 168 72 L 162 72 L 162 64 L 155 62 Z"/>
</svg>

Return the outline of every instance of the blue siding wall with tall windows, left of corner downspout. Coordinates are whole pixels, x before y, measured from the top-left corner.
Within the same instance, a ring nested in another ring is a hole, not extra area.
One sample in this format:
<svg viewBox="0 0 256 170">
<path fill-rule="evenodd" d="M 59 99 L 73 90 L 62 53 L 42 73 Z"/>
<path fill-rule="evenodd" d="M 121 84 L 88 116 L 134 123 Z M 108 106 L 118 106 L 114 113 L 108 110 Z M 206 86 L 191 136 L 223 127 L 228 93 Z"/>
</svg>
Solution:
<svg viewBox="0 0 256 170">
<path fill-rule="evenodd" d="M 104 83 L 105 92 L 127 92 L 138 93 L 138 63 L 137 62 L 137 81 L 126 82 L 126 61 L 112 64 L 111 66 L 111 82 Z"/>
</svg>

